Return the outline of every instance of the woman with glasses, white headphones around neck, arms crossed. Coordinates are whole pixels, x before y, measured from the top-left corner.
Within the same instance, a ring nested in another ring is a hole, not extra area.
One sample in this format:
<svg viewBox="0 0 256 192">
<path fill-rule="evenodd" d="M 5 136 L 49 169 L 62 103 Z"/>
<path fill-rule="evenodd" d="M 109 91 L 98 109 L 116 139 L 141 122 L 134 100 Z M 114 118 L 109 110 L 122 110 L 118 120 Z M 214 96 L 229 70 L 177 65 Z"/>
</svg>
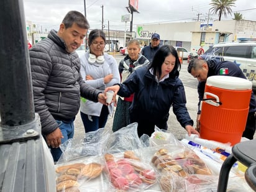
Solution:
<svg viewBox="0 0 256 192">
<path fill-rule="evenodd" d="M 120 83 L 120 75 L 116 60 L 104 53 L 106 36 L 103 30 L 91 30 L 88 37 L 89 51 L 80 57 L 81 76 L 86 83 L 94 88 L 104 91 L 105 88 Z M 113 111 L 113 104 L 105 106 L 101 103 L 81 98 L 80 114 L 85 132 L 103 128 L 107 116 Z"/>
</svg>

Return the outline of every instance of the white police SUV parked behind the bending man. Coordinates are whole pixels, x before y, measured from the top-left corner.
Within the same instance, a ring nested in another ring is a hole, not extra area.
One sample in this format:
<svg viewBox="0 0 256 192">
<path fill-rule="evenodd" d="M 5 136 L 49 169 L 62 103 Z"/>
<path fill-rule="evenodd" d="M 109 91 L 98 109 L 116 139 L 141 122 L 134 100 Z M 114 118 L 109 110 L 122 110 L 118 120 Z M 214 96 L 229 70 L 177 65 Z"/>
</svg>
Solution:
<svg viewBox="0 0 256 192">
<path fill-rule="evenodd" d="M 240 40 L 239 42 L 218 43 L 213 45 L 212 52 L 208 52 L 203 59 L 213 58 L 236 63 L 246 78 L 252 81 L 253 88 L 256 88 L 256 41 Z"/>
</svg>

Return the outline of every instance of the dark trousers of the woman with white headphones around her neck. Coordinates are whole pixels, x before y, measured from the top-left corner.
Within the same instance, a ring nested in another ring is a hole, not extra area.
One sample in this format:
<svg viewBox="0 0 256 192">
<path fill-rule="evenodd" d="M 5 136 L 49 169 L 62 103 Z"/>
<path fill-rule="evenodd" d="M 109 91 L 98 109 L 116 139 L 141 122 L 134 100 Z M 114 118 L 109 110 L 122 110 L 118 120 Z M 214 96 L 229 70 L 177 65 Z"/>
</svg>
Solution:
<svg viewBox="0 0 256 192">
<path fill-rule="evenodd" d="M 107 122 L 107 116 L 109 111 L 107 106 L 103 105 L 101 114 L 98 116 L 88 116 L 87 114 L 80 112 L 83 125 L 85 126 L 85 132 L 91 132 L 103 128 Z"/>
</svg>

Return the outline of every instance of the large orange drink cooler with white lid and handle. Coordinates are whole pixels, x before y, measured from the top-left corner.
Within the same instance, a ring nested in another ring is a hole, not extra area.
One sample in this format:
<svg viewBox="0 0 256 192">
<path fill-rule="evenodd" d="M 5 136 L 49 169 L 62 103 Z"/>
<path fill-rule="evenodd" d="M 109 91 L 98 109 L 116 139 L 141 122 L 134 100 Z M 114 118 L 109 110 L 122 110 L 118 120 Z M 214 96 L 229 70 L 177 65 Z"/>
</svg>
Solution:
<svg viewBox="0 0 256 192">
<path fill-rule="evenodd" d="M 252 83 L 234 76 L 210 76 L 201 102 L 200 137 L 231 145 L 244 132 Z"/>
</svg>

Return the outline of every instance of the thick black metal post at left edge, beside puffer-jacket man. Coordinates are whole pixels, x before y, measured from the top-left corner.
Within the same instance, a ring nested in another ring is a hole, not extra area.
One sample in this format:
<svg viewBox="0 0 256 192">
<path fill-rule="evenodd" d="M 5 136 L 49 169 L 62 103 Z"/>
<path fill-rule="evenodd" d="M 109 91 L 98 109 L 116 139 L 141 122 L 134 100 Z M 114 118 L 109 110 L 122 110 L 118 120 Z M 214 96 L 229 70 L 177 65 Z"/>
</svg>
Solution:
<svg viewBox="0 0 256 192">
<path fill-rule="evenodd" d="M 2 127 L 35 119 L 22 0 L 0 1 L 0 115 Z"/>
</svg>

